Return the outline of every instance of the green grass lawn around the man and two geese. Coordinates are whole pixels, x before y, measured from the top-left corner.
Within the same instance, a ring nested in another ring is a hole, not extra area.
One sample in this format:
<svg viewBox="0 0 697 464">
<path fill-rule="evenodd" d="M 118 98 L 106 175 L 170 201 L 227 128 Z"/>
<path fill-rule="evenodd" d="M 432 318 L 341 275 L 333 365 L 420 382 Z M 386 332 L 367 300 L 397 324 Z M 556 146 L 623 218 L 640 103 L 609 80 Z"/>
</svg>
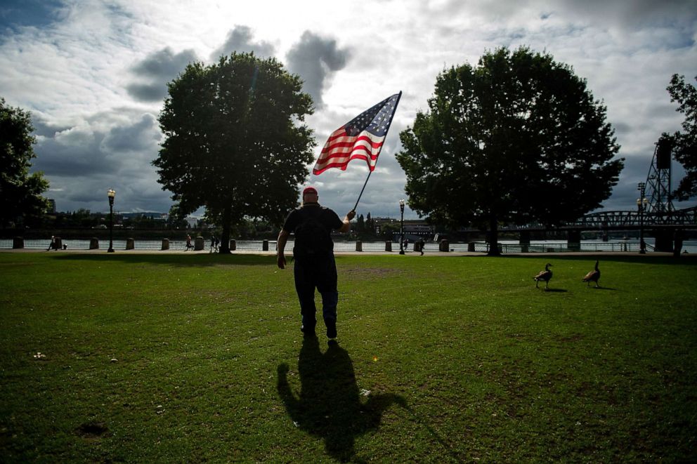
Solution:
<svg viewBox="0 0 697 464">
<path fill-rule="evenodd" d="M 600 258 L 338 256 L 328 345 L 271 256 L 0 253 L 0 461 L 697 460 L 697 260 Z"/>
</svg>

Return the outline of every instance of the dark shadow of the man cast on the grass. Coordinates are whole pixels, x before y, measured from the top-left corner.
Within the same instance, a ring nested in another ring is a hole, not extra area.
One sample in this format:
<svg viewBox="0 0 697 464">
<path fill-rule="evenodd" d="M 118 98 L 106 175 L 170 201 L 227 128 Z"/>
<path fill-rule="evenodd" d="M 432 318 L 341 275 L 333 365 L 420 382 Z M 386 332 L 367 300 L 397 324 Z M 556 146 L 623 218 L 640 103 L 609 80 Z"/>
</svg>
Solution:
<svg viewBox="0 0 697 464">
<path fill-rule="evenodd" d="M 327 453 L 340 461 L 353 457 L 355 438 L 377 430 L 382 413 L 392 403 L 406 406 L 398 395 L 361 395 L 351 357 L 336 342 L 322 353 L 317 337 L 304 338 L 298 359 L 298 397 L 288 385 L 288 371 L 287 364 L 278 366 L 278 395 L 289 416 L 297 427 L 322 437 Z"/>
</svg>

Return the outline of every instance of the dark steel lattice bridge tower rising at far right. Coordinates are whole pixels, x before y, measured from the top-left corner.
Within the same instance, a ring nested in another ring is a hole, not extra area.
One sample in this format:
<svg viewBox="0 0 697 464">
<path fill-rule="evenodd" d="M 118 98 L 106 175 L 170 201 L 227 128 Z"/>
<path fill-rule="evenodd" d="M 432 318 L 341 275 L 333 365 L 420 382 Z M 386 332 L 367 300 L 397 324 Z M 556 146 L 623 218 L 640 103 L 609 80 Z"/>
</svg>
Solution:
<svg viewBox="0 0 697 464">
<path fill-rule="evenodd" d="M 670 194 L 671 153 L 672 141 L 662 135 L 653 150 L 653 160 L 646 177 L 646 197 L 649 204 L 644 211 L 653 214 L 658 223 L 667 222 L 675 212 Z"/>
</svg>

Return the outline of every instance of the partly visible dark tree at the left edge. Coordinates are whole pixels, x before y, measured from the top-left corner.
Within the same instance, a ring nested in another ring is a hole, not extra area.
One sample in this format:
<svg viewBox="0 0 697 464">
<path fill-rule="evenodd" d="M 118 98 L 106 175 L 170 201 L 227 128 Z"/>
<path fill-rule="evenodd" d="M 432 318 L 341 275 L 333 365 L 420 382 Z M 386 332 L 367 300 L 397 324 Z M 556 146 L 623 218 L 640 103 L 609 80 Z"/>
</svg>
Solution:
<svg viewBox="0 0 697 464">
<path fill-rule="evenodd" d="M 48 180 L 41 172 L 31 173 L 34 143 L 31 114 L 5 104 L 0 98 L 0 223 L 6 227 L 18 218 L 39 216 L 48 201 L 41 194 Z"/>
</svg>

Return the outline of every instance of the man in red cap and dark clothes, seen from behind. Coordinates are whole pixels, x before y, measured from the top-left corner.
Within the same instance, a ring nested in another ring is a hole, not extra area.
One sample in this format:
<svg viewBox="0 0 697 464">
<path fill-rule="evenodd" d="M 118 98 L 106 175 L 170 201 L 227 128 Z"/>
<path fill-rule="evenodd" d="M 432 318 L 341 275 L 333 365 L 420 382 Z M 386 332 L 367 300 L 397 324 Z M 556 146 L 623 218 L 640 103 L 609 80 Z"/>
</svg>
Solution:
<svg viewBox="0 0 697 464">
<path fill-rule="evenodd" d="M 303 190 L 303 204 L 291 211 L 278 234 L 278 267 L 284 269 L 285 244 L 291 232 L 295 233 L 293 257 L 295 260 L 295 290 L 300 300 L 302 326 L 305 336 L 315 335 L 315 288 L 322 296 L 322 316 L 327 326 L 327 337 L 337 338 L 337 265 L 334 262 L 334 242 L 331 232 L 348 232 L 356 211 L 348 211 L 344 220 L 330 208 L 320 206 L 314 187 Z"/>
</svg>

